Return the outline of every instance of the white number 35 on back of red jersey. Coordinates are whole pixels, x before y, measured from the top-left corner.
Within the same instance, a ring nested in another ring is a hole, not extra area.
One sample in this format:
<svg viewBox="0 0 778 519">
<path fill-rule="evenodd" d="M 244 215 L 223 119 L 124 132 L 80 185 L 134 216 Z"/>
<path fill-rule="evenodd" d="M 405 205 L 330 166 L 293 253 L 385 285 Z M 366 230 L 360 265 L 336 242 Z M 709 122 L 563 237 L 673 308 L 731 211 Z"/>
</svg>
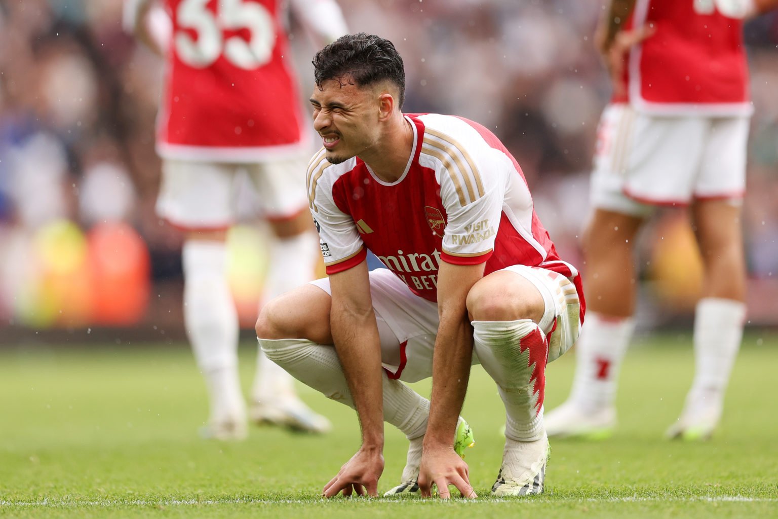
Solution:
<svg viewBox="0 0 778 519">
<path fill-rule="evenodd" d="M 264 5 L 243 0 L 219 0 L 216 15 L 205 5 L 209 0 L 183 0 L 176 12 L 176 52 L 187 65 L 205 68 L 224 54 L 240 68 L 258 68 L 272 56 L 275 45 L 273 19 Z M 197 38 L 186 30 L 194 30 Z M 225 39 L 224 30 L 247 29 L 249 40 L 240 36 Z"/>
</svg>

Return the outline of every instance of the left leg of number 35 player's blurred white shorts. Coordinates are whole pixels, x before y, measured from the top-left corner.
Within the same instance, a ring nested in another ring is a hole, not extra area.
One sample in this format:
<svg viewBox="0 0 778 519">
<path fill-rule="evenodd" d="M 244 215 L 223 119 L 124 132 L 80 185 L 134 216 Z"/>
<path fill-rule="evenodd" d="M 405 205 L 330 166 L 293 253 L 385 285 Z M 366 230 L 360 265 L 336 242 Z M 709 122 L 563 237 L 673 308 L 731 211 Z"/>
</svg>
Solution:
<svg viewBox="0 0 778 519">
<path fill-rule="evenodd" d="M 187 230 L 230 226 L 238 168 L 237 164 L 164 160 L 157 214 Z"/>
</svg>

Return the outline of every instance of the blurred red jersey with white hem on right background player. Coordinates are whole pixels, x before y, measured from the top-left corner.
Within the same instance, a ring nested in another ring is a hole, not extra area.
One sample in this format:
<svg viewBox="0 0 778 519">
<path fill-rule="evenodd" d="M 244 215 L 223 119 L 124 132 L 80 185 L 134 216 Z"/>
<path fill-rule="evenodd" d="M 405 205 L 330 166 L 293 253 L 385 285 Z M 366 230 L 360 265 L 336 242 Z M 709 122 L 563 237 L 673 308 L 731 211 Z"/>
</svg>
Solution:
<svg viewBox="0 0 778 519">
<path fill-rule="evenodd" d="M 655 33 L 630 51 L 626 100 L 652 114 L 750 114 L 743 24 L 723 14 L 737 3 L 637 0 L 625 28 Z"/>
</svg>

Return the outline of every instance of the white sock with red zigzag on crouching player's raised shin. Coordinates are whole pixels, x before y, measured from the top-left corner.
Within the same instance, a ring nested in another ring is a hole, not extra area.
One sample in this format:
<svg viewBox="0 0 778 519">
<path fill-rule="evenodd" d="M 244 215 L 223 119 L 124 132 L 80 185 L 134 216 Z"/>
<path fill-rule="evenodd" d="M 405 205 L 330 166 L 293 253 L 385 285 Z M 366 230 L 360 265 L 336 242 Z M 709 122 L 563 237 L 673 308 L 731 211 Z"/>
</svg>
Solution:
<svg viewBox="0 0 778 519">
<path fill-rule="evenodd" d="M 495 380 L 506 410 L 505 436 L 534 441 L 545 435 L 543 398 L 548 342 L 538 324 L 473 321 L 473 346 L 486 373 Z"/>
</svg>

